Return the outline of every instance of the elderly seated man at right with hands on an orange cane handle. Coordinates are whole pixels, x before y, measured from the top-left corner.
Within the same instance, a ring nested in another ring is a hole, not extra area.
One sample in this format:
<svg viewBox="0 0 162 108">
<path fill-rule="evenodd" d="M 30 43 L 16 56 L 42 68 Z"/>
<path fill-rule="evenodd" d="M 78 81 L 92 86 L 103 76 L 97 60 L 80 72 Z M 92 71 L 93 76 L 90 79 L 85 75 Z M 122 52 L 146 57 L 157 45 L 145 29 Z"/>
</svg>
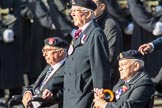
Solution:
<svg viewBox="0 0 162 108">
<path fill-rule="evenodd" d="M 113 88 L 116 100 L 106 102 L 101 96 L 103 89 L 95 88 L 95 108 L 148 108 L 154 85 L 144 71 L 142 58 L 143 55 L 136 50 L 120 53 L 120 80 Z"/>
</svg>

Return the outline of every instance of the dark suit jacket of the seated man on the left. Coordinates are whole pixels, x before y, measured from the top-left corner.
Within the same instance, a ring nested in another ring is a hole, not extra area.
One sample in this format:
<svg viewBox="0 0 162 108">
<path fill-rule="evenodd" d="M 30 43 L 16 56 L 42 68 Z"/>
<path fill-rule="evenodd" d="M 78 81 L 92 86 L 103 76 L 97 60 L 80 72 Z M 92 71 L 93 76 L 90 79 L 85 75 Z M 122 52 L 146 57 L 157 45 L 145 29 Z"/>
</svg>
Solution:
<svg viewBox="0 0 162 108">
<path fill-rule="evenodd" d="M 42 83 L 42 81 L 44 80 L 45 76 L 46 76 L 46 72 L 48 71 L 48 68 L 50 67 L 50 65 L 47 65 L 45 67 L 45 69 L 42 71 L 42 73 L 39 75 L 39 77 L 37 78 L 36 82 L 33 84 L 32 87 L 27 88 L 25 91 L 30 90 L 33 95 L 35 95 L 35 89 L 37 87 L 39 87 Z M 53 94 L 56 94 L 59 92 L 60 89 L 63 88 L 63 73 L 64 73 L 64 64 L 62 64 L 58 70 L 55 72 L 55 74 L 53 74 L 53 76 L 50 77 L 50 79 L 46 82 L 46 84 L 43 86 L 42 91 L 45 89 L 50 89 L 52 90 Z M 25 92 L 24 91 L 24 92 Z M 57 101 L 62 101 L 62 100 L 57 100 Z"/>
</svg>

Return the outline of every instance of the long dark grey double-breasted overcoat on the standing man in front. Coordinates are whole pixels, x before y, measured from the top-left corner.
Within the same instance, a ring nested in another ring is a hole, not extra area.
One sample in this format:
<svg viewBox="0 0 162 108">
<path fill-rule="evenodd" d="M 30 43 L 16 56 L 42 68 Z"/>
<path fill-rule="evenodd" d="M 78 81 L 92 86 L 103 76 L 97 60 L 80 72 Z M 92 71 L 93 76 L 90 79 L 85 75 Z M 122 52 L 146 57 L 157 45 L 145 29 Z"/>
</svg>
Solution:
<svg viewBox="0 0 162 108">
<path fill-rule="evenodd" d="M 90 108 L 93 100 L 91 90 L 110 87 L 107 39 L 93 20 L 73 42 L 73 54 L 65 63 L 63 105 L 64 108 Z"/>
</svg>

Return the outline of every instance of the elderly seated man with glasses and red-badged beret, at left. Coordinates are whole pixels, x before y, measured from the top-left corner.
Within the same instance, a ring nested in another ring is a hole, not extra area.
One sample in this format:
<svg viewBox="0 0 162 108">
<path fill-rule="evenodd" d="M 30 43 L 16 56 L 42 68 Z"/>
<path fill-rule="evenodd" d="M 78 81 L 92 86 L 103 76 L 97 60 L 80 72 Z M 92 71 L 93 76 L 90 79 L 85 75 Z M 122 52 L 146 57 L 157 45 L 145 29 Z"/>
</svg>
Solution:
<svg viewBox="0 0 162 108">
<path fill-rule="evenodd" d="M 27 107 L 27 103 L 32 99 L 33 96 L 42 96 L 44 98 L 47 97 L 48 94 L 42 95 L 42 92 L 45 91 L 46 88 L 55 86 L 52 91 L 54 96 L 59 92 L 60 89 L 63 88 L 63 70 L 67 55 L 66 50 L 68 48 L 68 43 L 59 37 L 52 37 L 45 39 L 44 44 L 45 45 L 42 49 L 42 53 L 48 65 L 39 75 L 36 82 L 31 87 L 25 89 L 22 99 L 25 107 Z M 28 106 L 28 108 L 43 107 L 43 105 L 47 106 L 48 104 L 33 102 L 31 106 Z M 59 108 L 61 107 L 62 104 L 60 104 Z"/>
</svg>

